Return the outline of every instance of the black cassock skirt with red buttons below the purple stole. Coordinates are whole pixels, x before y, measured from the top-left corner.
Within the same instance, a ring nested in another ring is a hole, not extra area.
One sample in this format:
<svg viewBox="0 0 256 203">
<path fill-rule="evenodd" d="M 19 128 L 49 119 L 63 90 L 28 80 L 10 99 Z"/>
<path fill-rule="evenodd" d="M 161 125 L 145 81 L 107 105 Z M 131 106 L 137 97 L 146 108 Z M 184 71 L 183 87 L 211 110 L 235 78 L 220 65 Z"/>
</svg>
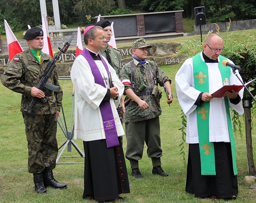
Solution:
<svg viewBox="0 0 256 203">
<path fill-rule="evenodd" d="M 83 198 L 106 201 L 130 192 L 122 145 L 107 148 L 105 139 L 84 141 L 84 152 Z"/>
</svg>

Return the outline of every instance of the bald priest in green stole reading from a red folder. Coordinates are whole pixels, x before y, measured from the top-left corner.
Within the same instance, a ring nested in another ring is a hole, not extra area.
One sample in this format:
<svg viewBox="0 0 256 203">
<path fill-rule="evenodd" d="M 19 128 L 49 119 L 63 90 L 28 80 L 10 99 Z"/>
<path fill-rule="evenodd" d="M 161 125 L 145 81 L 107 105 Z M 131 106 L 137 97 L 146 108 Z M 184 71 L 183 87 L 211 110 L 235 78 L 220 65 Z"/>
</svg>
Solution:
<svg viewBox="0 0 256 203">
<path fill-rule="evenodd" d="M 178 101 L 187 116 L 185 191 L 196 197 L 236 199 L 237 169 L 229 109 L 243 114 L 243 89 L 226 92 L 225 98 L 211 95 L 223 85 L 241 85 L 232 69 L 222 65 L 223 60 L 232 63 L 220 55 L 222 51 L 222 38 L 210 34 L 203 51 L 187 59 L 175 77 Z"/>
</svg>

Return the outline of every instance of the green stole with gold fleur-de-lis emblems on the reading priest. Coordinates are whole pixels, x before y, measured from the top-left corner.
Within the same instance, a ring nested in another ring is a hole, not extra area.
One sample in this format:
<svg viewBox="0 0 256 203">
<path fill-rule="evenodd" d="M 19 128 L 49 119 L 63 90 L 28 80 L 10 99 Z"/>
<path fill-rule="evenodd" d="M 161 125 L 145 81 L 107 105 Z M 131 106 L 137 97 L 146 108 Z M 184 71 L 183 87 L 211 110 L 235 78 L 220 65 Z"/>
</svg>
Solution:
<svg viewBox="0 0 256 203">
<path fill-rule="evenodd" d="M 198 53 L 192 57 L 193 61 L 193 72 L 194 72 L 194 85 L 195 89 L 201 92 L 209 93 L 209 77 L 208 77 L 208 66 L 205 61 L 201 58 L 201 53 Z M 220 61 L 218 66 L 222 75 L 222 81 L 230 80 L 230 68 L 222 65 L 222 61 L 226 60 L 225 57 L 219 56 Z M 217 98 L 216 98 L 217 99 Z M 235 144 L 234 144 L 234 133 L 231 122 L 231 115 L 229 111 L 229 98 L 224 98 L 227 123 L 229 128 L 229 137 L 231 142 L 232 151 L 232 162 L 234 175 L 237 174 L 236 169 L 236 157 L 235 157 Z M 199 150 L 201 159 L 201 174 L 202 175 L 216 175 L 215 170 L 215 157 L 214 157 L 214 145 L 213 142 L 209 142 L 209 111 L 210 102 L 203 102 L 201 106 L 196 107 L 197 127 L 198 127 L 198 139 L 199 139 Z M 208 114 L 208 116 L 207 116 Z"/>
</svg>

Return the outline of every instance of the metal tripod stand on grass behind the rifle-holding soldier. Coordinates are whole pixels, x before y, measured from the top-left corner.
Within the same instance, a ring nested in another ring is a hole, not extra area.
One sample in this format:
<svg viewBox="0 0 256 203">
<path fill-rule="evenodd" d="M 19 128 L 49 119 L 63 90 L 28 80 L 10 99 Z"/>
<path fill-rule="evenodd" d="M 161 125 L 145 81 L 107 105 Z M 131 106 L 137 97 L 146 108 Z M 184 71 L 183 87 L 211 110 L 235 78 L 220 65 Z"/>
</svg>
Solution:
<svg viewBox="0 0 256 203">
<path fill-rule="evenodd" d="M 59 80 L 71 80 L 70 77 L 59 77 Z M 76 151 L 80 154 L 81 157 L 85 157 L 84 156 L 84 152 L 76 145 L 76 143 L 73 141 L 73 137 L 74 137 L 74 124 L 73 123 L 73 107 L 74 107 L 74 87 L 73 87 L 73 91 L 72 91 L 72 105 L 71 105 L 71 119 L 70 119 L 70 130 L 68 131 L 67 129 L 67 122 L 65 119 L 65 113 L 64 113 L 64 109 L 63 109 L 63 105 L 61 105 L 61 110 L 62 110 L 62 116 L 60 115 L 57 122 L 60 126 L 60 129 L 62 130 L 63 134 L 65 135 L 65 137 L 67 138 L 67 140 L 58 148 L 58 150 L 60 150 L 62 147 L 62 150 L 60 152 L 60 154 L 58 155 L 58 157 L 56 158 L 56 164 L 76 164 L 76 163 L 83 163 L 83 162 L 68 162 L 68 163 L 58 163 L 58 160 L 60 158 L 71 158 L 71 157 L 61 157 L 62 153 L 64 152 L 65 148 L 67 147 L 67 151 L 71 152 L 71 146 L 73 145 L 73 147 L 76 149 Z M 73 126 L 73 129 L 72 129 Z M 77 156 L 79 157 L 79 156 Z"/>
</svg>

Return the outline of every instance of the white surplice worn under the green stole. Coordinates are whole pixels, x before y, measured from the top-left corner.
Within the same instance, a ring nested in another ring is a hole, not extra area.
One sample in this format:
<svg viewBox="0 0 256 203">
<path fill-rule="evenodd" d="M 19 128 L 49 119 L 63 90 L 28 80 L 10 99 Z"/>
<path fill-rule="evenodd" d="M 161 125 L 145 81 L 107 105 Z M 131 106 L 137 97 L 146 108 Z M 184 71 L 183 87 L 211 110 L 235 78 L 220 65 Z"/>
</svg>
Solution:
<svg viewBox="0 0 256 203">
<path fill-rule="evenodd" d="M 203 60 L 202 53 L 201 58 Z M 229 59 L 228 61 L 233 64 Z M 223 86 L 223 81 L 218 68 L 218 63 L 207 63 L 207 66 L 209 71 L 209 93 L 212 94 Z M 240 80 L 234 75 L 232 69 L 230 67 L 227 68 L 230 69 L 231 73 L 229 85 L 241 85 Z M 236 73 L 238 73 L 238 70 L 236 71 Z M 239 73 L 238 76 L 241 78 Z M 175 84 L 178 101 L 184 114 L 187 116 L 186 142 L 189 144 L 199 143 L 196 119 L 197 105 L 194 103 L 201 92 L 194 88 L 192 58 L 187 59 L 176 73 Z M 239 92 L 241 99 L 243 98 L 243 89 Z M 229 101 L 229 108 L 236 110 L 239 114 L 243 114 L 241 101 L 237 105 L 234 105 Z M 213 98 L 210 100 L 209 141 L 230 142 L 224 98 Z"/>
</svg>

